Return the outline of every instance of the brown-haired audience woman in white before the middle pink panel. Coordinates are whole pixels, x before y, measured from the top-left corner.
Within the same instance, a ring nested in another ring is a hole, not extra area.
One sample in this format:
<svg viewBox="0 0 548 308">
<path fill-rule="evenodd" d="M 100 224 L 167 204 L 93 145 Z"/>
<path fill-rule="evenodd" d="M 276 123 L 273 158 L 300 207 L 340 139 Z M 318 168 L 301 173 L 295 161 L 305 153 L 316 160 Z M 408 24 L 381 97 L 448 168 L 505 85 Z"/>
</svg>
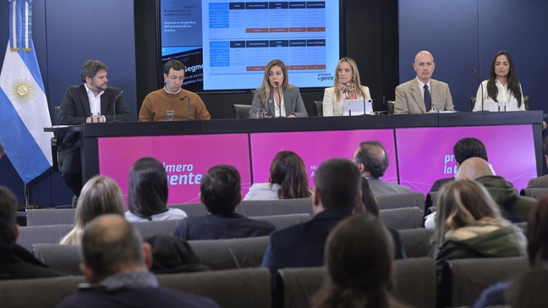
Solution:
<svg viewBox="0 0 548 308">
<path fill-rule="evenodd" d="M 244 200 L 308 198 L 308 175 L 303 159 L 291 151 L 276 154 L 270 164 L 270 182 L 255 183 Z"/>
</svg>

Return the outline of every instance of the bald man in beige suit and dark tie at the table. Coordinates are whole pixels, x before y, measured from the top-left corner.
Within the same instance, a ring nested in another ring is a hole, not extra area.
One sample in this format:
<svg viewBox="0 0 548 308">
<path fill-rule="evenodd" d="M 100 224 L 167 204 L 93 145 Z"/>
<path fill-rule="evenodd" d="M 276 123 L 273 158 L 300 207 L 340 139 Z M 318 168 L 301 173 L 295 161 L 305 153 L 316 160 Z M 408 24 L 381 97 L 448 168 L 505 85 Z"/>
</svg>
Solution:
<svg viewBox="0 0 548 308">
<path fill-rule="evenodd" d="M 427 114 L 434 104 L 440 110 L 454 110 L 449 86 L 431 79 L 434 73 L 434 57 L 428 51 L 420 51 L 415 56 L 413 68 L 416 78 L 396 87 L 395 114 Z"/>
</svg>

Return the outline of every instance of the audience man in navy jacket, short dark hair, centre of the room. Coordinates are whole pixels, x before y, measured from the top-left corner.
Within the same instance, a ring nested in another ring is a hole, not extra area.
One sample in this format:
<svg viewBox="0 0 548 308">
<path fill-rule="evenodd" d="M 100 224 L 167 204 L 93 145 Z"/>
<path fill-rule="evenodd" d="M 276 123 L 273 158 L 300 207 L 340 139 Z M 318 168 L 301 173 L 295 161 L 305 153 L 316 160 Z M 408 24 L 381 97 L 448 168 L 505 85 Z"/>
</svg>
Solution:
<svg viewBox="0 0 548 308">
<path fill-rule="evenodd" d="M 274 283 L 280 268 L 323 266 L 329 231 L 362 203 L 360 181 L 356 164 L 347 159 L 329 159 L 319 166 L 312 194 L 314 218 L 270 235 L 262 266 L 271 270 Z"/>
</svg>

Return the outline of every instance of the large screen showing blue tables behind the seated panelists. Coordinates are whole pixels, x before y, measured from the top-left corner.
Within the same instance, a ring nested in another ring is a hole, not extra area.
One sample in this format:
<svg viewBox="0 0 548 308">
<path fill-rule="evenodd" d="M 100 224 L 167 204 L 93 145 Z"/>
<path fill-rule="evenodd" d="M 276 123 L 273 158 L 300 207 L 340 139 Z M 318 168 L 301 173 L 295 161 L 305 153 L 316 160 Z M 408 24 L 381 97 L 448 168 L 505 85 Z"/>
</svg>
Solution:
<svg viewBox="0 0 548 308">
<path fill-rule="evenodd" d="M 290 84 L 333 86 L 339 12 L 339 0 L 161 0 L 161 80 L 175 59 L 186 65 L 187 90 L 255 89 L 266 64 L 279 59 Z"/>
</svg>

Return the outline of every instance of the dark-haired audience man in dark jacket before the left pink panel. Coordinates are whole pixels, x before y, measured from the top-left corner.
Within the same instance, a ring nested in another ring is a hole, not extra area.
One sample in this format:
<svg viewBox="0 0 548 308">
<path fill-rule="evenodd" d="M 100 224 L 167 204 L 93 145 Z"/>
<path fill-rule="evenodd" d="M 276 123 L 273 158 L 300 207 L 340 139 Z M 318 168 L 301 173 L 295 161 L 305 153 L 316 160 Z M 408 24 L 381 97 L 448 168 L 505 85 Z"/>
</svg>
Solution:
<svg viewBox="0 0 548 308">
<path fill-rule="evenodd" d="M 269 235 L 275 230 L 273 224 L 236 213 L 242 201 L 240 185 L 240 173 L 233 166 L 210 168 L 200 182 L 200 201 L 210 214 L 181 220 L 175 236 L 183 240 L 218 240 Z"/>
</svg>

